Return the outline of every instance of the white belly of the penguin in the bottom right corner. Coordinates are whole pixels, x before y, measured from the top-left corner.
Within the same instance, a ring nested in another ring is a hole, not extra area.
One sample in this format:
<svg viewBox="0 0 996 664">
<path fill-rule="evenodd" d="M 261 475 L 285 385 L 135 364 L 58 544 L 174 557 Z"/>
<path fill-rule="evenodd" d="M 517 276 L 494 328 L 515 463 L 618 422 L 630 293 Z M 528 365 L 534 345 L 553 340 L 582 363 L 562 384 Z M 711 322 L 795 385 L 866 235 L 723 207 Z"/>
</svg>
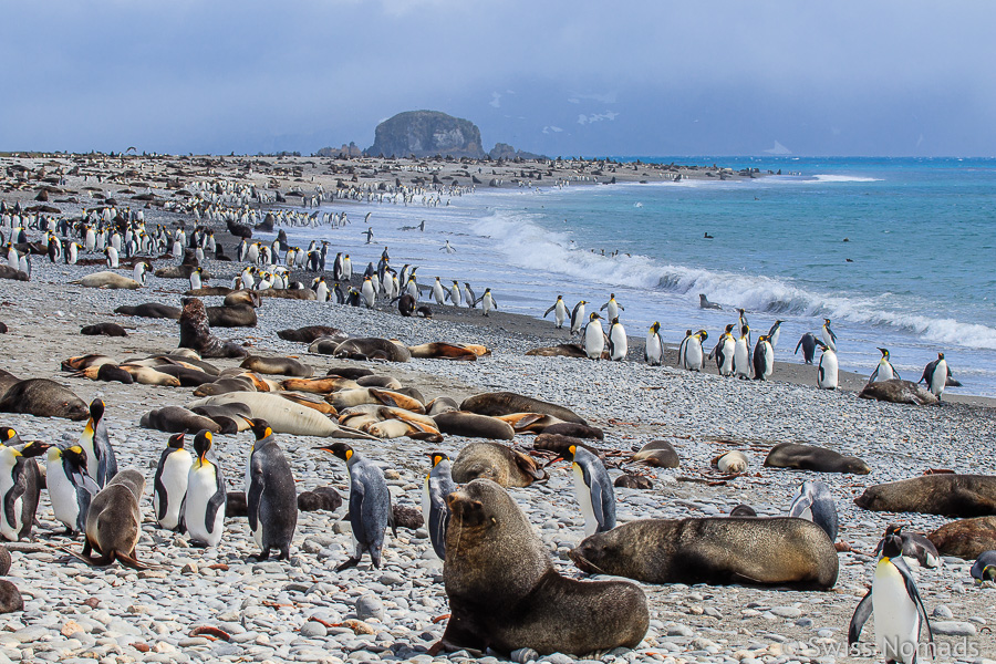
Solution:
<svg viewBox="0 0 996 664">
<path fill-rule="evenodd" d="M 872 581 L 875 644 L 886 661 L 911 664 L 920 642 L 920 614 L 906 593 L 902 574 L 888 562 L 879 562 Z M 907 655 L 907 656 L 903 656 Z"/>
</svg>

